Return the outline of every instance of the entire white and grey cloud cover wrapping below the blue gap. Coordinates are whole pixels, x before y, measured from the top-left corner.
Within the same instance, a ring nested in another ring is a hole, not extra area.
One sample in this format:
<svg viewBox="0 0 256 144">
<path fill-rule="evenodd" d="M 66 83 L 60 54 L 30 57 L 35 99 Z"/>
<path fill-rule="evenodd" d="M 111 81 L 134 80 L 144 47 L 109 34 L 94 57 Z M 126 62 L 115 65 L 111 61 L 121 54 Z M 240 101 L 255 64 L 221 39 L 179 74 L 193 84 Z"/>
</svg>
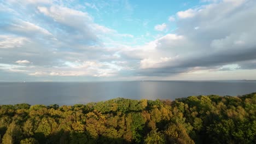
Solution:
<svg viewBox="0 0 256 144">
<path fill-rule="evenodd" d="M 90 6 L 94 7 L 86 5 Z M 252 0 L 211 1 L 179 11 L 168 19 L 176 22 L 176 30 L 141 45 L 130 44 L 131 38 L 138 39 L 136 35 L 100 25 L 83 10 L 43 1 L 27 1 L 22 7 L 32 7 L 35 13 L 22 17 L 19 13 L 25 9 L 10 7 L 4 13 L 19 19 L 1 19 L 0 73 L 24 74 L 33 80 L 256 69 L 256 2 Z M 167 27 L 162 23 L 154 28 L 165 31 Z"/>
</svg>

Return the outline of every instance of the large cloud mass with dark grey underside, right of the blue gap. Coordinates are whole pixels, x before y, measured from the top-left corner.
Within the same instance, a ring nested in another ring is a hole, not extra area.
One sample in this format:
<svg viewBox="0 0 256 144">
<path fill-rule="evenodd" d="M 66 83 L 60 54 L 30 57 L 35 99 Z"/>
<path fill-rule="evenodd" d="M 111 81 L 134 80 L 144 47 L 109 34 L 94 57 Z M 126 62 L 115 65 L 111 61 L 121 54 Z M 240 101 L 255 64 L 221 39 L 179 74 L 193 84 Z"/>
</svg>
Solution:
<svg viewBox="0 0 256 144">
<path fill-rule="evenodd" d="M 151 47 L 141 48 L 147 54 L 137 57 L 141 59 L 138 67 L 142 68 L 138 74 L 166 76 L 191 70 L 252 67 L 256 59 L 255 8 L 254 1 L 222 1 L 178 12 L 176 34 L 167 34 L 152 41 Z M 139 52 L 136 49 L 130 53 Z M 239 67 L 225 66 L 234 63 L 240 63 Z"/>
</svg>

